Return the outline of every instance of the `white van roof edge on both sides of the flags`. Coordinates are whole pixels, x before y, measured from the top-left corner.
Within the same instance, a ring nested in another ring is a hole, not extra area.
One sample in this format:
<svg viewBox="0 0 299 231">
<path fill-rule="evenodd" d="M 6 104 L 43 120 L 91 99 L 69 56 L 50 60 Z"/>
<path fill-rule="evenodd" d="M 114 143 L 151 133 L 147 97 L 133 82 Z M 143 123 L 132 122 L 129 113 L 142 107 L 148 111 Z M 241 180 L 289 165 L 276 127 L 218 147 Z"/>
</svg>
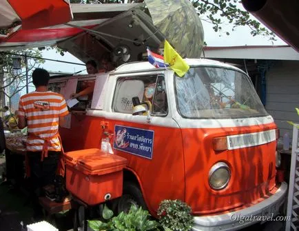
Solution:
<svg viewBox="0 0 299 231">
<path fill-rule="evenodd" d="M 215 61 L 211 59 L 184 59 L 189 66 L 218 66 L 223 68 L 231 68 L 235 70 L 239 70 L 235 66 L 229 65 L 227 63 L 222 63 L 220 61 Z M 163 69 L 163 68 L 161 68 Z M 114 70 L 114 74 L 118 74 L 121 72 L 140 72 L 144 70 L 158 70 L 151 63 L 147 61 L 143 62 L 132 62 L 132 63 L 124 63 Z M 242 70 L 241 70 L 242 71 Z"/>
</svg>

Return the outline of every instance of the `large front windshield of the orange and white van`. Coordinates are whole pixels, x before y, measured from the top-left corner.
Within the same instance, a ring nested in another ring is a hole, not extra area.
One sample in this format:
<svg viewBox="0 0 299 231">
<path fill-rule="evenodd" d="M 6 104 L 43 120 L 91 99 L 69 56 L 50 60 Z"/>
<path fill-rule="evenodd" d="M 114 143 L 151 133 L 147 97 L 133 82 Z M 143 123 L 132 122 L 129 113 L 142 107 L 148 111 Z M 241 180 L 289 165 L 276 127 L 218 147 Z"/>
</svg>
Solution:
<svg viewBox="0 0 299 231">
<path fill-rule="evenodd" d="M 190 68 L 175 74 L 178 112 L 186 118 L 243 118 L 267 115 L 249 78 L 217 67 Z"/>
</svg>

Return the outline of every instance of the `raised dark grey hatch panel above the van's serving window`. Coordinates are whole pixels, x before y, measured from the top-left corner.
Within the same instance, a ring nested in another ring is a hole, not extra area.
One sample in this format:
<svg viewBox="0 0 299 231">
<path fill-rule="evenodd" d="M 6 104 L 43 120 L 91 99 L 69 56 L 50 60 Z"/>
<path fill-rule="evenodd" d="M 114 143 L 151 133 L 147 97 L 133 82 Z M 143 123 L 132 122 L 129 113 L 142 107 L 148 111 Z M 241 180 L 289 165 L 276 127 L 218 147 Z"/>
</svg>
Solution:
<svg viewBox="0 0 299 231">
<path fill-rule="evenodd" d="M 92 30 L 58 41 L 57 46 L 83 62 L 94 59 L 100 63 L 102 55 L 109 52 L 119 66 L 123 61 L 117 57 L 118 48 L 129 50 L 129 61 L 140 61 L 147 46 L 156 50 L 163 41 L 163 34 L 156 30 L 149 15 L 134 8 L 94 26 Z"/>
</svg>

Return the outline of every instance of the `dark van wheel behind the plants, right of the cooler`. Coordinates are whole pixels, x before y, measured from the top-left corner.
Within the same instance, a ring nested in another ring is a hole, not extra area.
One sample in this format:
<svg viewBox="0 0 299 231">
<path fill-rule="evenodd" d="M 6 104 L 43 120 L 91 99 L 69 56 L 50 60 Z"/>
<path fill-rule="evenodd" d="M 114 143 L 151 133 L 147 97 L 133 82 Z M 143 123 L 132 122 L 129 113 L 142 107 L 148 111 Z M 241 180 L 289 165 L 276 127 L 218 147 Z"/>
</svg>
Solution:
<svg viewBox="0 0 299 231">
<path fill-rule="evenodd" d="M 123 196 L 118 201 L 117 212 L 129 212 L 131 205 L 141 206 L 144 210 L 147 209 L 143 195 L 136 183 L 124 182 Z"/>
</svg>

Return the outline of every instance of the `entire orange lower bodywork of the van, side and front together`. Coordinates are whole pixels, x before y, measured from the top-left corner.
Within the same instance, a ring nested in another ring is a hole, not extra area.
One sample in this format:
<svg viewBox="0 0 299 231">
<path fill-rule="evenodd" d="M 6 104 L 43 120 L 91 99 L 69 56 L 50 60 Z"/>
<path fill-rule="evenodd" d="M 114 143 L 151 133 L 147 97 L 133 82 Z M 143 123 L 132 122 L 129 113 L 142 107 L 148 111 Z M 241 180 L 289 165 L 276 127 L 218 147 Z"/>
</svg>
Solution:
<svg viewBox="0 0 299 231">
<path fill-rule="evenodd" d="M 181 199 L 194 214 L 216 214 L 257 203 L 276 190 L 276 141 L 222 152 L 212 147 L 214 137 L 272 130 L 276 129 L 274 123 L 180 129 L 76 114 L 72 115 L 72 128 L 60 130 L 65 151 L 101 148 L 101 121 L 109 123 L 111 134 L 114 125 L 154 130 L 152 159 L 114 150 L 127 159 L 127 168 L 140 179 L 143 198 L 154 216 L 163 199 Z M 209 170 L 219 161 L 229 165 L 231 179 L 225 189 L 216 191 L 209 186 Z"/>
</svg>

